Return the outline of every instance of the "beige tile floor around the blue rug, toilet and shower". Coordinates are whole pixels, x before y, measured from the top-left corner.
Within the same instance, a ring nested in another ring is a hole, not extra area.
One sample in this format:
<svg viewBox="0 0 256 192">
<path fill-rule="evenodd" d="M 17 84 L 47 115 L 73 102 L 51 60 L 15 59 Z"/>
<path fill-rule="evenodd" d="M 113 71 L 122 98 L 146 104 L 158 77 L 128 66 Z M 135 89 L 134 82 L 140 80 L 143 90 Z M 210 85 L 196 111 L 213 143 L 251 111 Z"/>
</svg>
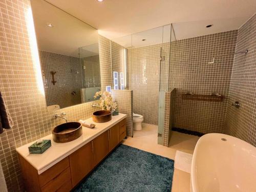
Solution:
<svg viewBox="0 0 256 192">
<path fill-rule="evenodd" d="M 194 148 L 199 139 L 197 136 L 172 132 L 169 146 L 166 147 L 157 144 L 157 131 L 157 125 L 143 123 L 143 129 L 141 131 L 134 131 L 134 136 L 125 139 L 123 144 L 139 148 L 140 150 L 146 152 L 174 159 L 177 150 L 193 154 Z M 189 191 L 190 174 L 175 168 L 172 192 Z"/>
</svg>

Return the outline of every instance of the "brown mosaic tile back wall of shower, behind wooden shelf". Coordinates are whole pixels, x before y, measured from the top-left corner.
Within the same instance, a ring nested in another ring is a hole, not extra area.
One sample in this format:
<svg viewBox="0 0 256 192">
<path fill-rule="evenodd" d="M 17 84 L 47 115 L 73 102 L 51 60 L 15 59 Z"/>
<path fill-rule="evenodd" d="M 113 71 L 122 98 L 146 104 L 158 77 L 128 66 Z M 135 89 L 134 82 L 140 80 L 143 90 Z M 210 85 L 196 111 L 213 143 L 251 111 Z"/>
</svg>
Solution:
<svg viewBox="0 0 256 192">
<path fill-rule="evenodd" d="M 223 133 L 237 30 L 177 40 L 170 46 L 170 87 L 175 87 L 174 126 L 201 133 Z M 215 63 L 208 64 L 214 56 Z M 183 100 L 186 91 L 222 102 Z"/>
</svg>

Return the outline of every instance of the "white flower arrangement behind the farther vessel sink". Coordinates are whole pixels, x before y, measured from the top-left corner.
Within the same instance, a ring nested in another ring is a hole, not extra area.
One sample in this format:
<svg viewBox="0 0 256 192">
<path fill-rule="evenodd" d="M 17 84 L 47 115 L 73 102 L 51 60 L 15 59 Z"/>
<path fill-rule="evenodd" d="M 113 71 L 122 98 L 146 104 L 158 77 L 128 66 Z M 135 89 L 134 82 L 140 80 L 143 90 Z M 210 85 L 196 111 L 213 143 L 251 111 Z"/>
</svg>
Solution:
<svg viewBox="0 0 256 192">
<path fill-rule="evenodd" d="M 116 111 L 117 103 L 113 101 L 110 92 L 98 91 L 95 93 L 94 98 L 99 97 L 99 105 L 101 110 Z"/>
</svg>

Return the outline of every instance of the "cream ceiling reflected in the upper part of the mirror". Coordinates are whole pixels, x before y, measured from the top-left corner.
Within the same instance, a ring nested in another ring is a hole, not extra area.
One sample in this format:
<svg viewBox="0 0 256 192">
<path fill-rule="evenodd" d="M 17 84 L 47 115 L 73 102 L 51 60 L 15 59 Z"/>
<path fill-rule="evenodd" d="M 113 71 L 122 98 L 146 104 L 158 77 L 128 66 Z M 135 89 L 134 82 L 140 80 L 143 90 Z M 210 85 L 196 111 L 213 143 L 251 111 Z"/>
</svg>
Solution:
<svg viewBox="0 0 256 192">
<path fill-rule="evenodd" d="M 94 45 L 98 43 L 95 28 L 44 0 L 32 0 L 31 6 L 39 50 L 79 57 L 79 47 L 92 45 L 84 55 L 94 54 Z M 48 27 L 49 23 L 54 27 Z"/>
</svg>

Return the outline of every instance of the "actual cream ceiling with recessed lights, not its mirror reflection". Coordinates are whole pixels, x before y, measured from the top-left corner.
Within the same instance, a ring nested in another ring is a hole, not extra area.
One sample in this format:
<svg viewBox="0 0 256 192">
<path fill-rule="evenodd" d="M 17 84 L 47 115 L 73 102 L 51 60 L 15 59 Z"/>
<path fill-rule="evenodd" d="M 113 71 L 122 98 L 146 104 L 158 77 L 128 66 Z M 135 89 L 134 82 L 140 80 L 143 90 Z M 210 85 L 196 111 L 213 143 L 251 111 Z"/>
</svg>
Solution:
<svg viewBox="0 0 256 192">
<path fill-rule="evenodd" d="M 47 0 L 115 39 L 170 23 L 178 39 L 238 29 L 256 11 L 254 0 Z M 187 25 L 188 24 L 188 25 Z M 214 26 L 205 29 L 205 25 Z M 188 27 L 190 26 L 190 27 Z M 192 31 L 186 30 L 194 29 Z M 128 38 L 128 37 L 127 37 Z"/>
</svg>

